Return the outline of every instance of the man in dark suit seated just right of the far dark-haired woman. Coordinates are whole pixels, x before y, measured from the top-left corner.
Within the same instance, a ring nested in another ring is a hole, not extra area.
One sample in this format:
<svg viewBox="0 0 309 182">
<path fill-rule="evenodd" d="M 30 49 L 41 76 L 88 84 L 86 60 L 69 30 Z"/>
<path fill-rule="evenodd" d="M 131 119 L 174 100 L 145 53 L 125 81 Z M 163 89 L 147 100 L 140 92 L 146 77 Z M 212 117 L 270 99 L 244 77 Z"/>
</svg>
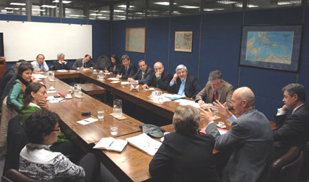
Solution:
<svg viewBox="0 0 309 182">
<path fill-rule="evenodd" d="M 122 56 L 122 66 L 120 67 L 120 71 L 117 73 L 116 78 L 128 79 L 133 77 L 136 72 L 137 68 L 132 62 L 130 62 L 129 56 Z"/>
</svg>

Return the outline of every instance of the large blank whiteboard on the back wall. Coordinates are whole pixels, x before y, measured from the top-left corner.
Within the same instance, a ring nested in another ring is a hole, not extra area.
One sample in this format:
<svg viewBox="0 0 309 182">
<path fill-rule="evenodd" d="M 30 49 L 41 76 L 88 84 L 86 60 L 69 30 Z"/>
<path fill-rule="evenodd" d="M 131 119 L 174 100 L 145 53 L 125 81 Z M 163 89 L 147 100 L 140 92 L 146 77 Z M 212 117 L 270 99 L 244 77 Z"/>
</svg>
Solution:
<svg viewBox="0 0 309 182">
<path fill-rule="evenodd" d="M 66 60 L 92 55 L 92 25 L 0 21 L 0 32 L 7 62 L 35 60 L 38 54 L 56 60 L 60 52 Z"/>
</svg>

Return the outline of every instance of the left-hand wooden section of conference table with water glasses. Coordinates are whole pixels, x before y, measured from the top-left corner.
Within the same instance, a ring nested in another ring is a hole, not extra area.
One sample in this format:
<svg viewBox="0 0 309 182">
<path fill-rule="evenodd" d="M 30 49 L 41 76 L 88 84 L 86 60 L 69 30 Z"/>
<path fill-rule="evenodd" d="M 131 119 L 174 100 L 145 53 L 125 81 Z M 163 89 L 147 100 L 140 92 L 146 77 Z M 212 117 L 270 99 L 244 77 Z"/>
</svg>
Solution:
<svg viewBox="0 0 309 182">
<path fill-rule="evenodd" d="M 58 95 L 58 93 L 63 93 L 67 95 L 69 93 L 70 86 L 61 80 L 55 78 L 55 81 L 50 81 L 47 78 L 38 80 L 42 82 L 47 87 L 49 91 L 50 87 L 54 87 L 56 92 L 48 93 L 48 96 Z M 139 125 L 143 124 L 133 117 L 124 115 L 125 120 L 117 120 L 115 117 L 110 115 L 113 113 L 113 108 L 108 106 L 99 100 L 92 98 L 87 94 L 82 95 L 83 98 L 71 98 L 63 99 L 58 103 L 48 102 L 49 109 L 58 113 L 62 119 L 60 123 L 61 130 L 73 137 L 73 140 L 82 142 L 83 146 L 93 146 L 94 142 L 99 141 L 102 137 L 112 137 L 110 125 L 117 123 L 119 125 L 118 134 L 113 135 L 113 137 L 119 137 L 122 135 L 128 135 L 130 133 L 135 133 L 141 131 Z M 98 111 L 105 111 L 104 120 L 98 122 L 92 122 L 90 124 L 82 125 L 78 121 L 84 120 L 90 116 L 82 116 L 81 113 L 84 111 L 91 111 L 91 115 L 98 118 Z"/>
</svg>

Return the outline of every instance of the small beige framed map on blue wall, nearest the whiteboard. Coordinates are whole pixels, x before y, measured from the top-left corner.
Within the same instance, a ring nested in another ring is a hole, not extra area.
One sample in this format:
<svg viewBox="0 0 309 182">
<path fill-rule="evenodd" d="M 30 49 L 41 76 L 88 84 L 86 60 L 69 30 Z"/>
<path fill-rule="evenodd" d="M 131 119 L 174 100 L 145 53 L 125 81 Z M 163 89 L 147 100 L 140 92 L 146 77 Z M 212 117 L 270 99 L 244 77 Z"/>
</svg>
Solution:
<svg viewBox="0 0 309 182">
<path fill-rule="evenodd" d="M 146 27 L 126 28 L 126 52 L 145 53 Z"/>
</svg>

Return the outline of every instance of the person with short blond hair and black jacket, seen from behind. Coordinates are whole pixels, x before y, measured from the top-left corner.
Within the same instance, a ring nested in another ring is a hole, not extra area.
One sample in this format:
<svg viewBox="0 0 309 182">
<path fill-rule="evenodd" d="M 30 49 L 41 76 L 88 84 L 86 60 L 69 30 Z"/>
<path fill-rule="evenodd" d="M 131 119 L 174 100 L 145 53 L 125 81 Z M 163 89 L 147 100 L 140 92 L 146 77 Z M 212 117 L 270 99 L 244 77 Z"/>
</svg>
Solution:
<svg viewBox="0 0 309 182">
<path fill-rule="evenodd" d="M 198 135 L 200 112 L 179 106 L 174 112 L 175 133 L 164 141 L 149 164 L 155 181 L 219 181 L 214 166 L 214 137 Z"/>
</svg>

